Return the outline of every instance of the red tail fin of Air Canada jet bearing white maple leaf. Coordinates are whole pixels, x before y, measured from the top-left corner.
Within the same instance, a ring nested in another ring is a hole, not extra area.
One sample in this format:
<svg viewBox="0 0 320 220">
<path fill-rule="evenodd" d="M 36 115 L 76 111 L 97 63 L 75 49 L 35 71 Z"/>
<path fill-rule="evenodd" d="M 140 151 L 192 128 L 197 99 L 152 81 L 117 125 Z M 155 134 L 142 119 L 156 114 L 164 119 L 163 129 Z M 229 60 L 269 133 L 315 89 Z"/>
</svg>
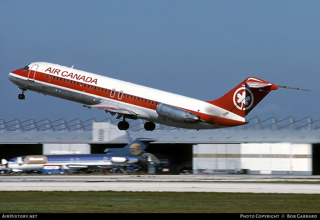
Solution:
<svg viewBox="0 0 320 220">
<path fill-rule="evenodd" d="M 271 90 L 275 84 L 249 77 L 219 99 L 208 103 L 219 106 L 242 117 L 246 116 Z"/>
</svg>

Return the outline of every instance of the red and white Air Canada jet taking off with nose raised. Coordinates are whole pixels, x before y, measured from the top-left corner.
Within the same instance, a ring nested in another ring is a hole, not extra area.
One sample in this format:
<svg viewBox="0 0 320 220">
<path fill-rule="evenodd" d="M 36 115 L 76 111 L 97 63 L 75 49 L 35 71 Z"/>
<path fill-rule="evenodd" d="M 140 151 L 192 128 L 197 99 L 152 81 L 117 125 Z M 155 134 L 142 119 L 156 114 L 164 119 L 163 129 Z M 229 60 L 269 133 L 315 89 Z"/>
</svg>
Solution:
<svg viewBox="0 0 320 220">
<path fill-rule="evenodd" d="M 22 91 L 21 100 L 31 90 L 102 109 L 123 118 L 119 130 L 129 129 L 126 119 L 146 120 L 148 131 L 155 129 L 155 123 L 196 130 L 244 125 L 249 123 L 244 117 L 270 91 L 306 90 L 248 77 L 221 98 L 202 101 L 47 62 L 29 63 L 8 77 Z"/>
</svg>

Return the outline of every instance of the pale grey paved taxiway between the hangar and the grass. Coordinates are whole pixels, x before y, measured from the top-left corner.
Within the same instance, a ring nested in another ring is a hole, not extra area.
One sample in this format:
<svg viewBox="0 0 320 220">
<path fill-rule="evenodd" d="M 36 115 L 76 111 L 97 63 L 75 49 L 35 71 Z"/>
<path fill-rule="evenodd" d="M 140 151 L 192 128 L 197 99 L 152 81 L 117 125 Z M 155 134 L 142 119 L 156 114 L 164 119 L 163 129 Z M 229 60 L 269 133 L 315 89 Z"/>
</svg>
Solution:
<svg viewBox="0 0 320 220">
<path fill-rule="evenodd" d="M 308 183 L 310 181 L 312 183 Z M 0 176 L 0 191 L 27 190 L 320 193 L 320 177 L 271 175 Z"/>
</svg>

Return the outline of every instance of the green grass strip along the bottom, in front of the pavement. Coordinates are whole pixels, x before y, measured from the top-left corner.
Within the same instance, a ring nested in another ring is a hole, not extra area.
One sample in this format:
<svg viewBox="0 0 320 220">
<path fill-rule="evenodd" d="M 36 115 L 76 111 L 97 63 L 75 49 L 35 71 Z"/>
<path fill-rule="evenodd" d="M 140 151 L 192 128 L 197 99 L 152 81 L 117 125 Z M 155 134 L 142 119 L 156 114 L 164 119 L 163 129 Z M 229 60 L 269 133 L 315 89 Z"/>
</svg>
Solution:
<svg viewBox="0 0 320 220">
<path fill-rule="evenodd" d="M 320 194 L 0 191 L 0 213 L 318 213 Z"/>
</svg>

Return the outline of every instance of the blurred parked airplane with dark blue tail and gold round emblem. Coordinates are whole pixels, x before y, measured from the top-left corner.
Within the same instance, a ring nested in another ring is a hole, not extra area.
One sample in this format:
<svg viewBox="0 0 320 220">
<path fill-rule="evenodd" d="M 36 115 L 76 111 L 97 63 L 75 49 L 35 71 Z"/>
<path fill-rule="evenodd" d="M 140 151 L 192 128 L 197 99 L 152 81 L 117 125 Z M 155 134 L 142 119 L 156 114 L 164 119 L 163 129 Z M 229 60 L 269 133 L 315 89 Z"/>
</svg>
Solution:
<svg viewBox="0 0 320 220">
<path fill-rule="evenodd" d="M 123 148 L 109 148 L 102 154 L 53 154 L 19 156 L 1 165 L 14 171 L 41 170 L 44 168 L 87 170 L 111 168 L 128 165 L 140 161 L 140 156 L 149 143 L 155 141 L 148 138 L 137 138 Z"/>
</svg>

